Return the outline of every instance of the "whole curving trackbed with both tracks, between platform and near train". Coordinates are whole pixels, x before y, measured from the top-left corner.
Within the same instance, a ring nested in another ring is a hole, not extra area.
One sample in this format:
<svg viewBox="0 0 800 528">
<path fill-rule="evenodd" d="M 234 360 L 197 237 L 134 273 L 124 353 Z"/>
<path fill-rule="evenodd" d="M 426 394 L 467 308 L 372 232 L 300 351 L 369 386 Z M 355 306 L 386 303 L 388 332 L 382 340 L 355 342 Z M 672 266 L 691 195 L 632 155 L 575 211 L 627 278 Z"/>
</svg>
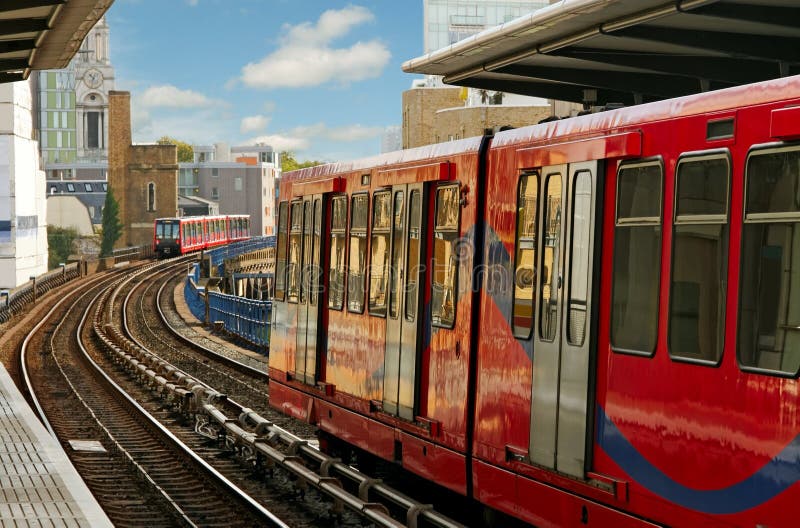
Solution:
<svg viewBox="0 0 800 528">
<path fill-rule="evenodd" d="M 322 454 L 269 408 L 263 370 L 169 329 L 185 265 L 65 287 L 22 347 L 33 404 L 116 525 L 462 526 Z"/>
</svg>

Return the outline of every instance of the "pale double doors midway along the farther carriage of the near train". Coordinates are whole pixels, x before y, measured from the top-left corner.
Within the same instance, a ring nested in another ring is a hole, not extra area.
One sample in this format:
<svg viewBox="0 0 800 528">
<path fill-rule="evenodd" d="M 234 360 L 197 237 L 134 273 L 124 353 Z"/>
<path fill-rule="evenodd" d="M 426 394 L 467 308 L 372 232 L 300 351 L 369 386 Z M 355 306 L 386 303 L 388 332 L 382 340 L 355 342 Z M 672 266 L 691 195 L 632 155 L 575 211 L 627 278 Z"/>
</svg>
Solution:
<svg viewBox="0 0 800 528">
<path fill-rule="evenodd" d="M 386 354 L 383 410 L 406 420 L 416 413 L 420 295 L 425 273 L 423 184 L 392 187 L 389 247 L 389 303 L 386 311 Z"/>
</svg>

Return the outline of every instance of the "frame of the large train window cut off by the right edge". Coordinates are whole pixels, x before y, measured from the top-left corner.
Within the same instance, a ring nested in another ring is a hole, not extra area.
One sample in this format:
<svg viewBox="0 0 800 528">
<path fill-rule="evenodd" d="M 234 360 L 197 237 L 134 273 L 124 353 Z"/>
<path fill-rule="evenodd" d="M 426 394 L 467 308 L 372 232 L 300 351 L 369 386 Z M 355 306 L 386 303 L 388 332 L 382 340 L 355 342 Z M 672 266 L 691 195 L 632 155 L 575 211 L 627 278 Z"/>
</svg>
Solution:
<svg viewBox="0 0 800 528">
<path fill-rule="evenodd" d="M 800 144 L 798 143 L 765 143 L 759 145 L 752 145 L 750 150 L 747 151 L 747 156 L 744 160 L 744 167 L 742 168 L 742 217 L 741 217 L 741 229 L 740 229 L 740 236 L 739 236 L 739 262 L 737 263 L 739 267 L 739 284 L 737 285 L 737 300 L 736 300 L 736 364 L 739 367 L 739 370 L 742 372 L 747 372 L 750 374 L 761 374 L 765 376 L 771 376 L 774 378 L 783 378 L 783 379 L 797 379 L 800 376 L 800 366 L 798 366 L 795 372 L 785 372 L 781 370 L 773 370 L 767 369 L 762 367 L 753 367 L 749 365 L 745 365 L 742 363 L 741 355 L 740 355 L 740 343 L 741 343 L 741 336 L 742 336 L 742 329 L 741 329 L 741 313 L 742 313 L 742 284 L 744 282 L 744 274 L 742 273 L 742 268 L 744 267 L 744 231 L 745 226 L 747 224 L 776 224 L 776 223 L 787 223 L 787 222 L 797 222 L 800 223 L 800 211 L 795 213 L 751 213 L 748 215 L 747 213 L 747 199 L 748 199 L 748 183 L 749 183 L 749 167 L 750 167 L 750 160 L 754 156 L 763 156 L 768 155 L 771 152 L 792 152 L 792 151 L 800 151 Z"/>
</svg>

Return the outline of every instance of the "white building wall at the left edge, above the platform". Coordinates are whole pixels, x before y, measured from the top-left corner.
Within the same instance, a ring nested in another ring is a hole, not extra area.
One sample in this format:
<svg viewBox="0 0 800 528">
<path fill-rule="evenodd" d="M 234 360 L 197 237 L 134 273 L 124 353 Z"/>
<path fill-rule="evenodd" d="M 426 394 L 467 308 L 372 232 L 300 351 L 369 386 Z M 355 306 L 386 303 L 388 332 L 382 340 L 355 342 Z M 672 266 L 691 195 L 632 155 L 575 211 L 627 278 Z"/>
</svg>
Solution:
<svg viewBox="0 0 800 528">
<path fill-rule="evenodd" d="M 44 171 L 33 139 L 30 85 L 0 84 L 0 287 L 47 271 Z"/>
</svg>

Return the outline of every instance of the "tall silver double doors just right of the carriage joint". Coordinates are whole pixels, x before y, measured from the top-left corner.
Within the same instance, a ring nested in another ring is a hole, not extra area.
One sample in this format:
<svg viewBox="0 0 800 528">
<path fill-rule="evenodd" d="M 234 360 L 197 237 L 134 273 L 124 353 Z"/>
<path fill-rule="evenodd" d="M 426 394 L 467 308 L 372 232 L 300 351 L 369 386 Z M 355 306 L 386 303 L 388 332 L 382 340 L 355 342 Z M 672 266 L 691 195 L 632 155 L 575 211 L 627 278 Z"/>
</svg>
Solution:
<svg viewBox="0 0 800 528">
<path fill-rule="evenodd" d="M 589 406 L 596 161 L 542 170 L 530 457 L 583 478 Z"/>
</svg>

